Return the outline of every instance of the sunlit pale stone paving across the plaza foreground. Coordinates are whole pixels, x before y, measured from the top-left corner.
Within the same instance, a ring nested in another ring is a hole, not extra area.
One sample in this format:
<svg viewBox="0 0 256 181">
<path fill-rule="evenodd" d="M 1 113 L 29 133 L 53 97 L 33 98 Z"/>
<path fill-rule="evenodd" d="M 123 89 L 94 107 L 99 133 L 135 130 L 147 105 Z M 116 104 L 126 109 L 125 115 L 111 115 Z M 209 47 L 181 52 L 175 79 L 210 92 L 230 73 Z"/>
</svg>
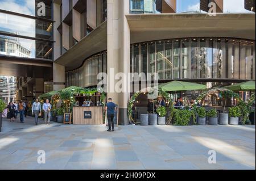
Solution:
<svg viewBox="0 0 256 181">
<path fill-rule="evenodd" d="M 39 164 L 38 150 L 46 151 Z M 208 163 L 208 151 L 216 163 Z M 0 169 L 255 169 L 255 125 L 34 125 L 3 120 Z"/>
</svg>

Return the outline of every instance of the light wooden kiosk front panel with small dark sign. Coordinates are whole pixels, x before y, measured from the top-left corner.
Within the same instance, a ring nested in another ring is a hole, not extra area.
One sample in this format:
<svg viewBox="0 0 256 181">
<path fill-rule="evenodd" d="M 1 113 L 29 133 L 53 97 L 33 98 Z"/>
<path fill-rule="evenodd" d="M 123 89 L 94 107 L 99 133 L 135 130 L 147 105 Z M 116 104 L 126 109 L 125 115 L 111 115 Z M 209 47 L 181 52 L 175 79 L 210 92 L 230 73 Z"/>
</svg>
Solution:
<svg viewBox="0 0 256 181">
<path fill-rule="evenodd" d="M 102 106 L 73 107 L 73 124 L 103 124 Z"/>
</svg>

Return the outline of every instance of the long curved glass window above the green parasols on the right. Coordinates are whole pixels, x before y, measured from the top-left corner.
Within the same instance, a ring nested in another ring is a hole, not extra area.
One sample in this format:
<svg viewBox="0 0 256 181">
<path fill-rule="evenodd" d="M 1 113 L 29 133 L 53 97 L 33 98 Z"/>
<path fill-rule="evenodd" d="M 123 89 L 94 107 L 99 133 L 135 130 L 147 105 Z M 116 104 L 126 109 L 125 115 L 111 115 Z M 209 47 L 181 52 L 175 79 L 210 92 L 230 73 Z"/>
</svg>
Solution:
<svg viewBox="0 0 256 181">
<path fill-rule="evenodd" d="M 253 79 L 255 41 L 205 37 L 137 43 L 131 45 L 131 65 L 133 73 L 148 68 L 160 80 Z"/>
</svg>

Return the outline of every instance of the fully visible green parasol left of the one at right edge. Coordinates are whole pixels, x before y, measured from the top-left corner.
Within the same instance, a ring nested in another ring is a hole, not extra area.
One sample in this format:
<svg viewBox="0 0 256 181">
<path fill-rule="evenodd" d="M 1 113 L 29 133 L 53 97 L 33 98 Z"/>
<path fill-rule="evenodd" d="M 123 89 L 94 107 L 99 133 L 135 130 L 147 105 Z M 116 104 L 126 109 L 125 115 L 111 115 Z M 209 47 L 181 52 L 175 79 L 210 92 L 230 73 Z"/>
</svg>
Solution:
<svg viewBox="0 0 256 181">
<path fill-rule="evenodd" d="M 185 91 L 185 90 L 204 90 L 206 89 L 205 85 L 199 83 L 191 82 L 181 82 L 181 81 L 172 81 L 159 85 L 159 88 L 163 91 Z"/>
</svg>

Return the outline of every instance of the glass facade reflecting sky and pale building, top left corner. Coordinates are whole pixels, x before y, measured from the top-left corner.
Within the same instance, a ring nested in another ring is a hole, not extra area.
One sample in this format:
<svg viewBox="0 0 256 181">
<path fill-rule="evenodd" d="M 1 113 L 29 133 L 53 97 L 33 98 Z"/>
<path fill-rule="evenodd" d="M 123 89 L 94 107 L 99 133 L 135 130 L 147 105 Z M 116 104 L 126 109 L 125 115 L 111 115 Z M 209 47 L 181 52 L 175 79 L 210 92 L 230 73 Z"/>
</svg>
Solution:
<svg viewBox="0 0 256 181">
<path fill-rule="evenodd" d="M 45 16 L 38 14 L 41 7 L 38 3 L 41 2 L 46 7 Z M 0 10 L 10 11 L 0 12 L 0 56 L 2 54 L 52 60 L 51 4 L 52 1 L 0 0 Z M 20 15 L 13 14 L 15 12 Z"/>
</svg>

